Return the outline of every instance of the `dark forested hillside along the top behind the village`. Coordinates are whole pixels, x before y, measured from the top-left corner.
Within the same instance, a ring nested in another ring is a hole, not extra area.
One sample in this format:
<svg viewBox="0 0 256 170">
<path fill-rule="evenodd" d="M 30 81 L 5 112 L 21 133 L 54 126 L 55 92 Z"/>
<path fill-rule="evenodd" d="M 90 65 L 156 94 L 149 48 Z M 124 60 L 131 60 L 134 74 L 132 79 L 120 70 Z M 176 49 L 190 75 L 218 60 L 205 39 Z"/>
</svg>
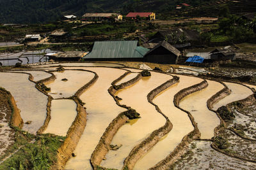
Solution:
<svg viewBox="0 0 256 170">
<path fill-rule="evenodd" d="M 164 13 L 177 4 L 198 6 L 211 0 L 0 0 L 0 23 L 33 24 L 59 20 L 63 15 L 86 12 L 155 11 Z"/>
</svg>

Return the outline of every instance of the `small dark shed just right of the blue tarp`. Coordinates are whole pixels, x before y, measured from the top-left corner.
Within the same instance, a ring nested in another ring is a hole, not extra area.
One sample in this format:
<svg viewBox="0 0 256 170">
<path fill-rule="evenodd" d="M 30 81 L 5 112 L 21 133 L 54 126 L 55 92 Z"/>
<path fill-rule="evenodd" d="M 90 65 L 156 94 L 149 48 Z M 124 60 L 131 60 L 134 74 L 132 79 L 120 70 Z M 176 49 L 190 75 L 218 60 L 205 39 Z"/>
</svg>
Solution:
<svg viewBox="0 0 256 170">
<path fill-rule="evenodd" d="M 230 50 L 230 48 L 216 48 L 211 53 L 212 60 L 234 60 L 236 59 L 236 53 Z"/>
</svg>

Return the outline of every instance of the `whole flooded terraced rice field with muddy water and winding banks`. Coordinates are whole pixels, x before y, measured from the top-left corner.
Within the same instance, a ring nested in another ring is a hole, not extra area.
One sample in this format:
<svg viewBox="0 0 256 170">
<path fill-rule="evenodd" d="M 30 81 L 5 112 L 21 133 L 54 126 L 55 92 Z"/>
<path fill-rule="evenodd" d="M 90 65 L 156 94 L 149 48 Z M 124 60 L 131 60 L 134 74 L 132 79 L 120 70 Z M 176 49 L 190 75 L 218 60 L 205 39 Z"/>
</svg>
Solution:
<svg viewBox="0 0 256 170">
<path fill-rule="evenodd" d="M 56 70 L 60 65 L 64 71 Z M 186 66 L 182 69 L 191 70 Z M 240 83 L 204 81 L 192 75 L 156 71 L 143 76 L 141 69 L 103 62 L 49 64 L 8 71 L 15 73 L 1 72 L 0 87 L 14 97 L 26 123 L 22 129 L 67 137 L 56 152 L 53 169 L 256 166 L 255 124 L 248 123 L 255 117 L 244 113 L 256 110 L 256 99 L 252 90 Z M 200 71 L 204 70 L 191 70 Z M 30 80 L 29 74 L 33 76 Z M 44 85 L 51 91 L 45 91 Z M 218 98 L 216 94 L 221 96 L 225 85 L 231 93 L 214 101 L 211 110 L 209 99 Z M 249 96 L 249 101 L 239 101 Z M 232 105 L 230 110 L 235 117 L 224 124 L 215 110 L 234 101 L 243 103 L 237 105 L 243 108 Z M 15 141 L 4 116 L 8 108 L 0 106 L 0 135 L 4 133 L 8 140 L 3 145 L 0 139 L 1 156 Z M 237 134 L 236 128 L 241 125 L 247 129 L 243 135 L 241 129 Z M 224 150 L 218 148 L 220 141 L 216 139 L 220 136 L 231 144 Z"/>
</svg>

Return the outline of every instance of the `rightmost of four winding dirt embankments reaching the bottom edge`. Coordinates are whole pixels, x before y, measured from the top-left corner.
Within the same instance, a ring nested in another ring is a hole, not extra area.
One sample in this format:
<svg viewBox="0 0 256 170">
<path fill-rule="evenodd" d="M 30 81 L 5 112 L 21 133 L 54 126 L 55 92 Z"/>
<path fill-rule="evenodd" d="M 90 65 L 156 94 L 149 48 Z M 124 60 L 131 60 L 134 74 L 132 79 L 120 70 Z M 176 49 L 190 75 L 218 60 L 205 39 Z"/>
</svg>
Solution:
<svg viewBox="0 0 256 170">
<path fill-rule="evenodd" d="M 174 99 L 173 99 L 173 103 L 175 105 L 175 107 L 179 108 L 180 110 L 188 113 L 188 116 L 194 126 L 194 130 L 189 132 L 189 134 L 187 134 L 186 136 L 184 136 L 184 138 L 182 139 L 182 141 L 179 143 L 179 145 L 173 150 L 172 153 L 170 153 L 170 155 L 168 155 L 164 160 L 162 160 L 161 162 L 159 162 L 158 164 L 156 164 L 156 166 L 151 167 L 150 169 L 168 169 L 174 162 L 176 162 L 185 152 L 186 149 L 189 146 L 189 143 L 191 143 L 194 139 L 198 139 L 200 138 L 200 132 L 198 130 L 197 124 L 195 122 L 195 119 L 193 118 L 193 116 L 191 115 L 191 113 L 189 113 L 189 111 L 183 110 L 182 108 L 180 108 L 179 103 L 180 101 L 188 96 L 189 94 L 192 94 L 194 92 L 198 92 L 202 89 L 205 89 L 208 86 L 207 81 L 202 81 L 201 83 L 198 83 L 196 85 L 193 85 L 191 87 L 188 87 L 186 89 L 182 89 L 180 90 L 180 92 L 178 92 L 177 94 L 175 94 Z"/>
</svg>

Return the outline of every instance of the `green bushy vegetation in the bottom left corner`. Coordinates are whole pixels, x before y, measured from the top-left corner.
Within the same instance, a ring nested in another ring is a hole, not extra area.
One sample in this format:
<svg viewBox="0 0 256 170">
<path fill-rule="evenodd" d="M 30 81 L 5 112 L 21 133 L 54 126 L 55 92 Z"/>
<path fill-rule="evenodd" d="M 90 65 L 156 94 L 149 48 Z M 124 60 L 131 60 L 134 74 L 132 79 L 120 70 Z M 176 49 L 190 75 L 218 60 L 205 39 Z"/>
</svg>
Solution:
<svg viewBox="0 0 256 170">
<path fill-rule="evenodd" d="M 10 154 L 0 169 L 49 169 L 56 162 L 56 153 L 64 137 L 52 134 L 35 136 L 15 128 L 15 143 L 8 149 L 3 159 Z"/>
</svg>

